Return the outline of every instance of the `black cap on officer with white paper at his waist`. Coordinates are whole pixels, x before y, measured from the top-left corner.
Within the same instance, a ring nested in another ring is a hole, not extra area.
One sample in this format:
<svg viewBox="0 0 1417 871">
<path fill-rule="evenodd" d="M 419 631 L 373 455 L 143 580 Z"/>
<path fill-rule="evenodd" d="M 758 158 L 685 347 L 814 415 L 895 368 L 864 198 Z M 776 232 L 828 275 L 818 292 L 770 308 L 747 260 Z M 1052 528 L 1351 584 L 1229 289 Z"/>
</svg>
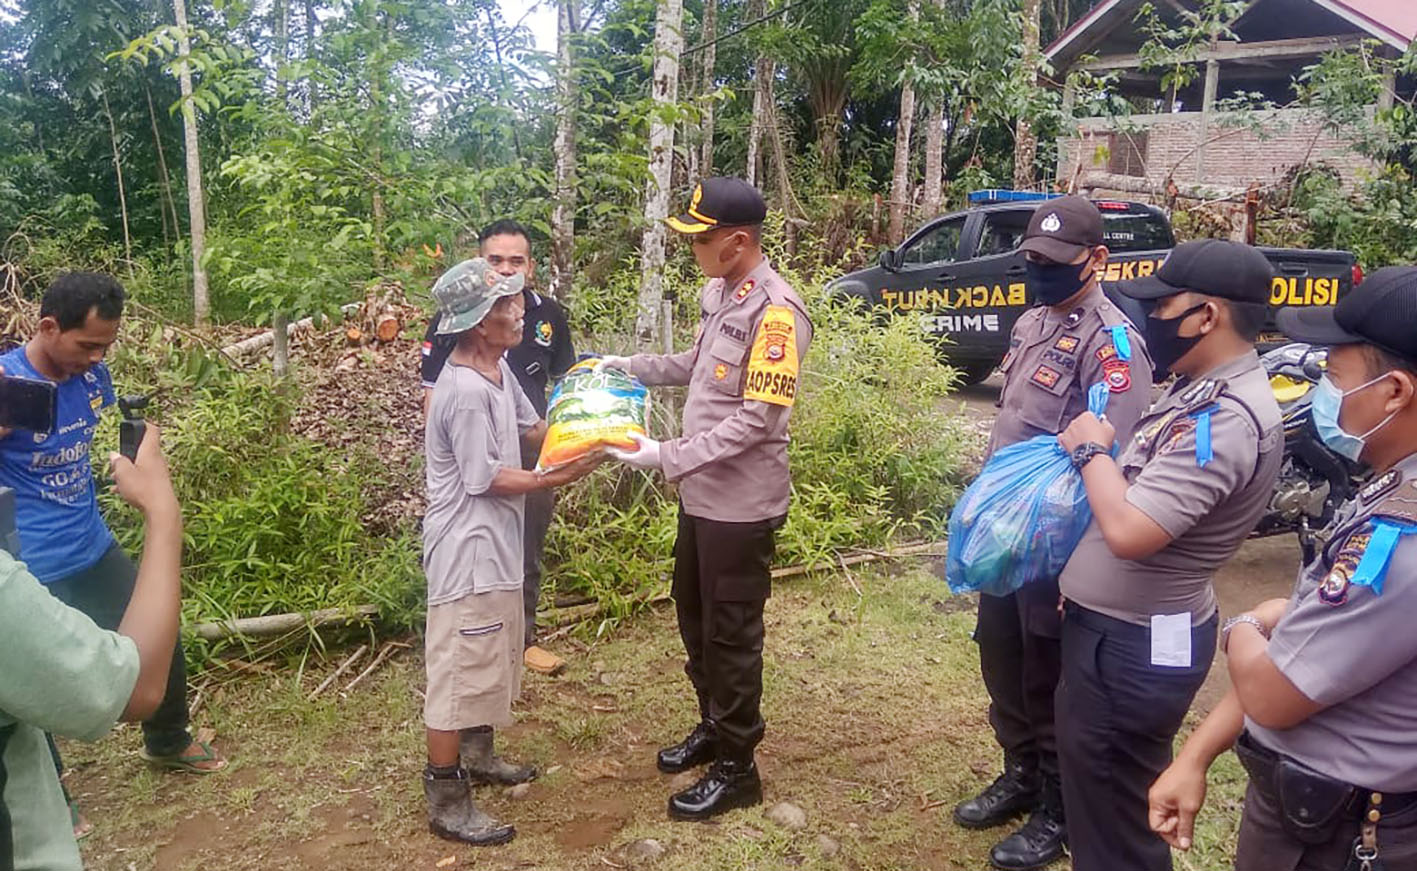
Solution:
<svg viewBox="0 0 1417 871">
<path fill-rule="evenodd" d="M 1237 303 L 1270 303 L 1274 266 L 1260 249 L 1226 239 L 1193 239 L 1170 249 L 1153 275 L 1118 282 L 1132 299 L 1161 299 L 1186 290 Z"/>
</svg>

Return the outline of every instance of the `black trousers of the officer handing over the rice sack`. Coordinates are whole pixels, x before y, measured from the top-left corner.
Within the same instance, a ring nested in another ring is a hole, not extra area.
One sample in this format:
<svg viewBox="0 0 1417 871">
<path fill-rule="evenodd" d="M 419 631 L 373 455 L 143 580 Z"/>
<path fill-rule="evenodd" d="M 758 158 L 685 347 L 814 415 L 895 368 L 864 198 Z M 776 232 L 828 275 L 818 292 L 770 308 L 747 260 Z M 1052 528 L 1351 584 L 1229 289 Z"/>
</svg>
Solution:
<svg viewBox="0 0 1417 871">
<path fill-rule="evenodd" d="M 684 673 L 720 758 L 751 759 L 762 741 L 762 606 L 782 520 L 724 523 L 679 510 L 673 595 Z"/>
</svg>

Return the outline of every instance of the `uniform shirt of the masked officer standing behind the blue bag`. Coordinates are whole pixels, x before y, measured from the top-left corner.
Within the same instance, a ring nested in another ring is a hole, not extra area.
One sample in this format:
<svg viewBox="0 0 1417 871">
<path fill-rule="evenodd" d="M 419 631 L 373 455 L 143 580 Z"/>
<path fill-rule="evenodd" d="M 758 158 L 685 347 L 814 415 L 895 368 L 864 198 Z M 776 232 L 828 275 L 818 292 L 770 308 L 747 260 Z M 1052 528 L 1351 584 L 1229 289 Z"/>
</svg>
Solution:
<svg viewBox="0 0 1417 871">
<path fill-rule="evenodd" d="M 1063 432 L 1087 411 L 1087 391 L 1098 381 L 1111 391 L 1107 419 L 1119 439 L 1127 439 L 1151 398 L 1152 367 L 1142 338 L 1100 288 L 1070 312 L 1049 306 L 1024 312 L 1013 324 L 999 371 L 1003 389 L 986 457 L 1016 442 Z"/>
</svg>

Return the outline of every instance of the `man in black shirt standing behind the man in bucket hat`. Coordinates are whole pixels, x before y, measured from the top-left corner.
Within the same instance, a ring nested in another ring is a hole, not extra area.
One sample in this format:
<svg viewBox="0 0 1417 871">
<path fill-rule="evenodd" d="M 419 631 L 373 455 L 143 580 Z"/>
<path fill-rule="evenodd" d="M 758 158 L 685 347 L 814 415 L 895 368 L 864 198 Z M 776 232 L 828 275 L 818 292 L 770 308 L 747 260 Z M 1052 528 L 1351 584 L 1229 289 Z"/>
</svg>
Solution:
<svg viewBox="0 0 1417 871">
<path fill-rule="evenodd" d="M 571 330 L 565 324 L 565 310 L 548 296 L 531 289 L 536 262 L 531 259 L 531 238 L 527 229 L 516 221 L 489 224 L 478 237 L 479 256 L 502 275 L 521 273 L 526 279 L 526 327 L 521 330 L 521 344 L 507 351 L 507 365 L 521 384 L 531 405 L 546 418 L 547 388 L 553 378 L 560 378 L 575 363 L 575 347 L 571 344 Z M 442 372 L 448 354 L 452 353 L 456 336 L 438 336 L 438 316 L 434 314 L 424 336 L 422 382 L 424 416 L 428 415 L 428 398 Z M 521 466 L 536 467 L 536 453 L 523 452 Z M 551 508 L 555 504 L 554 490 L 527 493 L 523 596 L 526 598 L 526 654 L 527 668 L 543 674 L 558 674 L 565 668 L 565 660 L 544 650 L 536 643 L 536 606 L 541 598 L 541 551 L 546 547 L 546 533 L 551 525 Z"/>
</svg>

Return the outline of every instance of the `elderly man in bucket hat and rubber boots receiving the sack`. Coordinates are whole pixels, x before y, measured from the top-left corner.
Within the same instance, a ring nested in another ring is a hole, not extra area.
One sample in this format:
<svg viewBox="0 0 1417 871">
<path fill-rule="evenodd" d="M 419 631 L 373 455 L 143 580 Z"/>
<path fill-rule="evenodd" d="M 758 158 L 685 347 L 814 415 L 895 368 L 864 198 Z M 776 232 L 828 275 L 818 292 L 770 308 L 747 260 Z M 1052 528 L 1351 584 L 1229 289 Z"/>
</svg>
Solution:
<svg viewBox="0 0 1417 871">
<path fill-rule="evenodd" d="M 521 690 L 524 497 L 578 480 L 602 459 L 544 474 L 521 467 L 520 440 L 546 435 L 504 358 L 521 341 L 521 283 L 478 258 L 434 286 L 438 331 L 458 344 L 434 387 L 425 436 L 424 795 L 434 834 L 478 846 L 504 844 L 516 829 L 480 812 L 472 785 L 523 783 L 537 773 L 492 752 L 492 731 L 510 725 Z"/>
</svg>

